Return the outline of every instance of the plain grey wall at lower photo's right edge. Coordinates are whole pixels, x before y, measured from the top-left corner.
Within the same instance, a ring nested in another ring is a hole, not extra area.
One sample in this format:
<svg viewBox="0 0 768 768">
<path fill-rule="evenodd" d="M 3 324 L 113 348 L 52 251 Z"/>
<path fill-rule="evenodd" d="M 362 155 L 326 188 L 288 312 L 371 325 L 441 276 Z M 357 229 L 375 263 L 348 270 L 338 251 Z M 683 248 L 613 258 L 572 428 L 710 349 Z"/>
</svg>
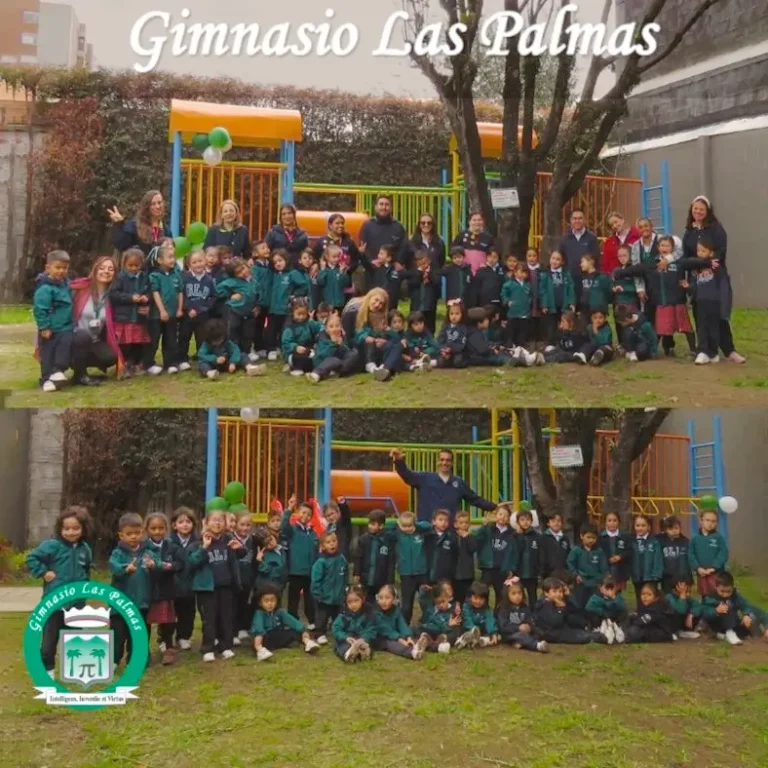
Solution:
<svg viewBox="0 0 768 768">
<path fill-rule="evenodd" d="M 662 427 L 664 432 L 685 434 L 693 420 L 695 441 L 712 439 L 712 417 L 721 418 L 725 490 L 739 501 L 738 511 L 728 518 L 731 559 L 755 571 L 768 573 L 768 410 L 703 408 L 673 411 Z"/>
</svg>

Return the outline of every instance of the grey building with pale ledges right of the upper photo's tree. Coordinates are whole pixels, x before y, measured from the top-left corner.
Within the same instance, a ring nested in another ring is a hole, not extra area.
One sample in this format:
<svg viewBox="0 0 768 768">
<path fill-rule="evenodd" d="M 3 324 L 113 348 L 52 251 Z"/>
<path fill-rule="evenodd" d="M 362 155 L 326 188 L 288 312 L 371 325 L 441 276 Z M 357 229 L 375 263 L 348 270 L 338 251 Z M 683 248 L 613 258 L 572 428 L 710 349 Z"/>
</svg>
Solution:
<svg viewBox="0 0 768 768">
<path fill-rule="evenodd" d="M 639 22 L 649 0 L 618 0 L 617 23 Z M 700 5 L 673 0 L 659 17 L 660 49 Z M 672 227 L 706 195 L 728 232 L 736 306 L 764 307 L 765 179 L 768 176 L 768 2 L 722 0 L 692 27 L 629 100 L 616 145 L 621 174 L 651 185 L 669 163 Z M 761 194 L 762 193 L 762 194 Z"/>
</svg>

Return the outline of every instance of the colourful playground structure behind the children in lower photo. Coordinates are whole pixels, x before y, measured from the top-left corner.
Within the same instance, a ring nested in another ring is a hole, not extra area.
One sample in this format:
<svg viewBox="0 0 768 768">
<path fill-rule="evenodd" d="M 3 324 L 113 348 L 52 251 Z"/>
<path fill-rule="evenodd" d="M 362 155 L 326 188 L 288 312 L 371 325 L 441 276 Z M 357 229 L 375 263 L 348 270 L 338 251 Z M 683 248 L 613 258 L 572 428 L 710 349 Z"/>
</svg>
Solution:
<svg viewBox="0 0 768 768">
<path fill-rule="evenodd" d="M 473 442 L 452 445 L 454 472 L 463 477 L 481 496 L 511 501 L 517 507 L 532 493 L 525 468 L 519 427 L 514 414 L 511 426 L 500 429 L 501 413 L 490 411 L 490 433 Z M 554 412 L 549 412 L 549 427 L 544 436 L 557 445 L 560 433 Z M 599 430 L 590 472 L 588 511 L 595 519 L 602 514 L 606 483 L 610 473 L 611 443 L 616 432 Z M 660 519 L 675 514 L 696 527 L 696 500 L 705 495 L 725 495 L 725 473 L 719 417 L 713 419 L 713 440 L 696 443 L 692 424 L 687 435 L 657 434 L 648 449 L 632 464 L 631 512 Z M 314 419 L 259 419 L 246 423 L 233 416 L 208 413 L 208 459 L 206 496 L 215 496 L 231 480 L 246 487 L 245 504 L 257 519 L 271 502 L 281 502 L 296 493 L 299 498 L 315 498 L 320 504 L 344 496 L 358 524 L 372 509 L 399 514 L 415 507 L 415 491 L 392 470 L 389 453 L 403 450 L 408 466 L 416 472 L 437 470 L 442 445 L 376 443 L 336 440 L 333 437 L 330 409 Z M 336 469 L 333 456 L 344 453 L 368 454 L 380 458 L 380 469 Z M 550 465 L 550 471 L 557 470 Z M 721 531 L 727 534 L 727 515 L 721 514 Z M 474 522 L 480 522 L 479 518 Z"/>
</svg>

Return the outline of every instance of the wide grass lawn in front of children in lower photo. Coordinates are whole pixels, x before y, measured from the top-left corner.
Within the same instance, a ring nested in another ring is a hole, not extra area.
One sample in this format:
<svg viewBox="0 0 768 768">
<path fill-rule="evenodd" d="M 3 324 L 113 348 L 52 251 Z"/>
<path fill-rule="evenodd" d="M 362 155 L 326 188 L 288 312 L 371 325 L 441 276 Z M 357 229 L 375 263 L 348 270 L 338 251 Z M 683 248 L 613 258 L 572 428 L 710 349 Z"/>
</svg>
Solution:
<svg viewBox="0 0 768 768">
<path fill-rule="evenodd" d="M 750 597 L 768 582 L 740 579 Z M 0 614 L 3 765 L 317 768 L 717 768 L 768 765 L 768 643 L 713 640 L 388 654 L 343 665 L 241 649 L 153 665 L 138 702 L 73 712 L 33 701 L 25 617 Z"/>
</svg>

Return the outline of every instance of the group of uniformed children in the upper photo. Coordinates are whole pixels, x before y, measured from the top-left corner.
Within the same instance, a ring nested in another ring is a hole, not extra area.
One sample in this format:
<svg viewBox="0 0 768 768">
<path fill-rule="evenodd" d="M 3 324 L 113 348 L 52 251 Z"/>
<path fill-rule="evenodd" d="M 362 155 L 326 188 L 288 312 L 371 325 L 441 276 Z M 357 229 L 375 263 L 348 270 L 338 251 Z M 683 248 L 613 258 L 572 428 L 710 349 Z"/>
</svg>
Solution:
<svg viewBox="0 0 768 768">
<path fill-rule="evenodd" d="M 189 370 L 193 337 L 198 371 L 208 379 L 237 371 L 262 375 L 266 366 L 259 361 L 278 358 L 286 372 L 313 382 L 362 371 L 386 381 L 435 367 L 602 365 L 617 354 L 630 361 L 652 358 L 660 339 L 665 353 L 674 354 L 677 332 L 698 352 L 697 363 L 717 362 L 716 334 L 702 320 L 697 346 L 687 308 L 690 292 L 697 306 L 711 310 L 698 315 L 719 317 L 714 247 L 701 240 L 699 258 L 681 259 L 674 239 L 661 237 L 658 250 L 653 265 L 633 265 L 629 246 L 619 247 L 613 275 L 599 272 L 594 258 L 584 255 L 575 280 L 558 251 L 546 268 L 535 248 L 524 259 L 508 255 L 503 267 L 490 248 L 473 274 L 459 245 L 442 268 L 417 252 L 409 269 L 383 246 L 374 261 L 365 261 L 371 290 L 354 335 L 341 322 L 352 295 L 348 257 L 330 241 L 319 254 L 303 251 L 297 263 L 285 250 L 270 253 L 264 240 L 253 244 L 249 259 L 214 246 L 189 254 L 183 268 L 172 239 L 146 258 L 132 248 L 122 254 L 108 301 L 123 378 Z M 66 381 L 69 365 L 68 266 L 65 252 L 51 252 L 34 297 L 45 391 Z M 403 285 L 410 297 L 407 317 L 397 308 Z M 435 336 L 443 293 L 446 319 Z M 655 328 L 641 311 L 646 301 Z M 611 307 L 616 337 L 608 324 Z M 155 359 L 159 346 L 162 364 Z"/>
</svg>

